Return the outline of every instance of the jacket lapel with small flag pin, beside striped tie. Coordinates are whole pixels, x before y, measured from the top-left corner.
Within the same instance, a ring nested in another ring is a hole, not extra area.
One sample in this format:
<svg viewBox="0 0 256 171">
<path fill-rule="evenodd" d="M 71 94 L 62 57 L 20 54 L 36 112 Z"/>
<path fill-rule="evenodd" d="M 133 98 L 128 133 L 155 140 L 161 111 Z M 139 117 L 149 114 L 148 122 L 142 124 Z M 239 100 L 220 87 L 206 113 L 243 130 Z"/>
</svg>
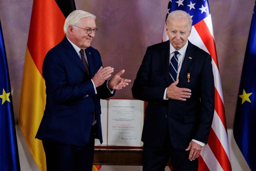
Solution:
<svg viewBox="0 0 256 171">
<path fill-rule="evenodd" d="M 187 71 L 188 67 L 190 66 L 191 62 L 194 60 L 194 47 L 192 45 L 192 43 L 190 43 L 188 41 L 188 47 L 187 47 L 187 51 L 180 69 L 180 73 L 179 73 L 179 80 L 181 80 L 181 78 L 184 76 L 185 72 Z"/>
</svg>

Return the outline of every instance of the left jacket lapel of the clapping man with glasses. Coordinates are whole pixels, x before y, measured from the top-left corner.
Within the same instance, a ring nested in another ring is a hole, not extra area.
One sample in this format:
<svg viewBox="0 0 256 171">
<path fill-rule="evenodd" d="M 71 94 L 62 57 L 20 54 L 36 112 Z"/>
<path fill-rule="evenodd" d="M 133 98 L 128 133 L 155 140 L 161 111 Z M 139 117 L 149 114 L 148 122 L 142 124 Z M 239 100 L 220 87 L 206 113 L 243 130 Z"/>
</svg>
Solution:
<svg viewBox="0 0 256 171">
<path fill-rule="evenodd" d="M 67 37 L 65 36 L 62 40 L 64 48 L 67 50 L 67 54 L 72 58 L 76 64 L 84 71 L 86 72 L 86 69 L 84 67 L 84 64 L 82 60 L 79 58 L 78 54 L 76 53 L 76 50 L 72 46 L 72 44 L 68 41 Z"/>
</svg>

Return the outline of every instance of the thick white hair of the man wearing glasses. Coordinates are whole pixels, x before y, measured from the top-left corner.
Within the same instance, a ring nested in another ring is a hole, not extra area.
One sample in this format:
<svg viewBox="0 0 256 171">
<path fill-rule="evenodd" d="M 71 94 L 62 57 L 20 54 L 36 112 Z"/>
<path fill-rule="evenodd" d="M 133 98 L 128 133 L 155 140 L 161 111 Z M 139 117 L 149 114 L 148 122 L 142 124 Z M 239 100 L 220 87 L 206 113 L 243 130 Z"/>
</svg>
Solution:
<svg viewBox="0 0 256 171">
<path fill-rule="evenodd" d="M 79 20 L 82 18 L 92 18 L 92 19 L 96 19 L 96 16 L 89 13 L 89 12 L 85 12 L 82 10 L 75 10 L 73 12 L 71 12 L 67 19 L 65 20 L 64 23 L 64 33 L 67 35 L 68 33 L 68 26 L 76 26 L 77 24 L 79 24 Z"/>
</svg>

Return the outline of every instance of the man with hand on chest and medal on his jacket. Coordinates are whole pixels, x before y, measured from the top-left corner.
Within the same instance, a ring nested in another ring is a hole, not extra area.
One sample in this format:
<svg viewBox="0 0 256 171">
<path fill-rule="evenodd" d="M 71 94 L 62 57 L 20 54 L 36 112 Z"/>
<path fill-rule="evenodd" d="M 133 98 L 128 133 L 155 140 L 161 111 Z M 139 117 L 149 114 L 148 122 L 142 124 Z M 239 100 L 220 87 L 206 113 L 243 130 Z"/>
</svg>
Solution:
<svg viewBox="0 0 256 171">
<path fill-rule="evenodd" d="M 148 102 L 141 140 L 143 170 L 197 170 L 214 113 L 211 56 L 188 41 L 192 20 L 174 11 L 166 20 L 169 40 L 147 48 L 132 87 Z M 176 58 L 176 59 L 175 59 Z M 172 60 L 173 59 L 173 60 Z"/>
</svg>

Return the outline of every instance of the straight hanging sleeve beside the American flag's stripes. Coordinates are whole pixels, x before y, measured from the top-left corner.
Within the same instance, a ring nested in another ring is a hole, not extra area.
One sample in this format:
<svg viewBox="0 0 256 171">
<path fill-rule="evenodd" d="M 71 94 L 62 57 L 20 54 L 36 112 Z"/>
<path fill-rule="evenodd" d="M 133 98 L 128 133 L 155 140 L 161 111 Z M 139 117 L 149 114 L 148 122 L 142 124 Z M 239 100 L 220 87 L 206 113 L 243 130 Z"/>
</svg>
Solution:
<svg viewBox="0 0 256 171">
<path fill-rule="evenodd" d="M 214 114 L 214 76 L 212 72 L 212 57 L 207 56 L 201 73 L 201 109 L 200 118 L 194 139 L 207 144 Z"/>
</svg>

